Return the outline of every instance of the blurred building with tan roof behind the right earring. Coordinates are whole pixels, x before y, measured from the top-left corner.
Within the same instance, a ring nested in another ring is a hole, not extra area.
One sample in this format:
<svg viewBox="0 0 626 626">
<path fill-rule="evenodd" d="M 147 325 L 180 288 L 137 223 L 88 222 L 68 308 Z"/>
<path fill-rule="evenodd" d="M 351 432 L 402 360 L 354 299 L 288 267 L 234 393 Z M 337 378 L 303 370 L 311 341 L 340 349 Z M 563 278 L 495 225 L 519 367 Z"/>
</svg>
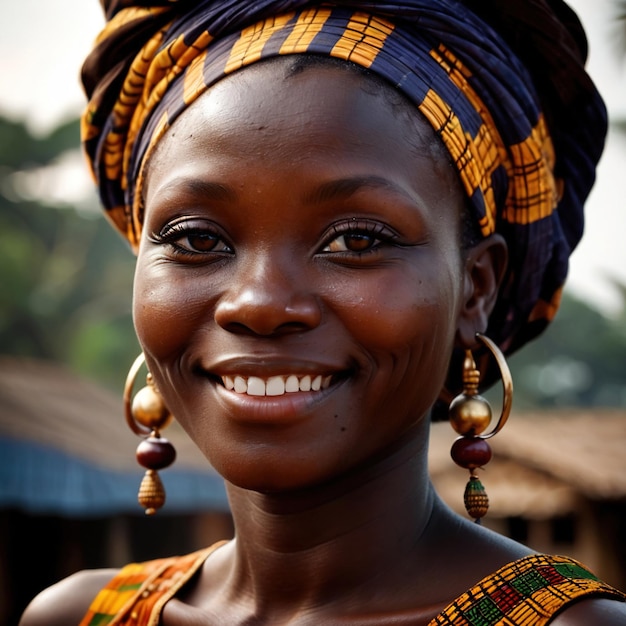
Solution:
<svg viewBox="0 0 626 626">
<path fill-rule="evenodd" d="M 430 471 L 441 497 L 467 516 L 468 471 L 449 452 L 457 436 L 433 425 Z M 489 443 L 493 458 L 479 474 L 490 499 L 485 525 L 626 588 L 626 411 L 513 411 Z"/>
</svg>

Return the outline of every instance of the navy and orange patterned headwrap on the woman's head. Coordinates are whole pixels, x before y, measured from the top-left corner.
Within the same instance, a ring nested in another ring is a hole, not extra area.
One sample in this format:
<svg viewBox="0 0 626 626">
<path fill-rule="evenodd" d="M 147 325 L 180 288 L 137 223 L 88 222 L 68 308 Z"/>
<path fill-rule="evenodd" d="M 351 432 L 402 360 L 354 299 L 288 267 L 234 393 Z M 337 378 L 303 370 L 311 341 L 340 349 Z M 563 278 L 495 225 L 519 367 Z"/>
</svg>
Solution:
<svg viewBox="0 0 626 626">
<path fill-rule="evenodd" d="M 136 249 L 143 164 L 200 94 L 261 59 L 352 61 L 432 125 L 509 268 L 487 334 L 507 353 L 553 318 L 606 134 L 580 22 L 561 0 L 102 0 L 83 66 L 83 141 L 109 218 Z"/>
</svg>

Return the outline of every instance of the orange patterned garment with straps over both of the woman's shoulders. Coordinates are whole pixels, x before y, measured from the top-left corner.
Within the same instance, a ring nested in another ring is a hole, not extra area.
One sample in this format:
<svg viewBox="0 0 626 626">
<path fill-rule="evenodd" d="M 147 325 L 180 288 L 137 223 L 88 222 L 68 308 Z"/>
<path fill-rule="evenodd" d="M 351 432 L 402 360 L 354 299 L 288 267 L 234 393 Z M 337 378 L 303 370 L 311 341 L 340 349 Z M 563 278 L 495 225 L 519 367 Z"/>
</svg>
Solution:
<svg viewBox="0 0 626 626">
<path fill-rule="evenodd" d="M 157 626 L 165 603 L 223 542 L 184 557 L 127 565 L 96 596 L 79 626 Z M 499 569 L 452 602 L 429 626 L 542 626 L 585 597 L 626 601 L 580 563 L 533 555 Z"/>
</svg>

